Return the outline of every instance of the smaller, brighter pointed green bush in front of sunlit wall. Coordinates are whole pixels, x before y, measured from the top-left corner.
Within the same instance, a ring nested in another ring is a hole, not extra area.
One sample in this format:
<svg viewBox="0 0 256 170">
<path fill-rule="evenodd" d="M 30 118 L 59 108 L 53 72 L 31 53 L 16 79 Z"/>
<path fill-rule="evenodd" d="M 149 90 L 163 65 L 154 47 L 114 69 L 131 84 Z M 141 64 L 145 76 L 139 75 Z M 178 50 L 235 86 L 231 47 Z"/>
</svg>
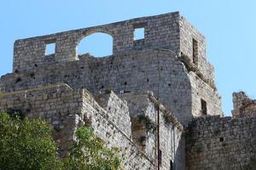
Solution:
<svg viewBox="0 0 256 170">
<path fill-rule="evenodd" d="M 118 149 L 108 149 L 102 139 L 97 138 L 90 127 L 80 127 L 77 140 L 65 161 L 70 170 L 115 170 L 120 169 Z"/>
</svg>

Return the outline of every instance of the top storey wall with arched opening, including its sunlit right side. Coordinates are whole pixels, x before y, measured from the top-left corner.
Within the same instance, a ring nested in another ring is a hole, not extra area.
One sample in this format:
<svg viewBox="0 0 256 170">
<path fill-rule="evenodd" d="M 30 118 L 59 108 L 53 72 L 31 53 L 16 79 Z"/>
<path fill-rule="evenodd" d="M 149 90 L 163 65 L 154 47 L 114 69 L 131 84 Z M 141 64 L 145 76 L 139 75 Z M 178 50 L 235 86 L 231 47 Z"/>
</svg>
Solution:
<svg viewBox="0 0 256 170">
<path fill-rule="evenodd" d="M 137 28 L 144 28 L 143 39 L 135 40 Z M 79 42 L 96 32 L 113 37 L 113 55 L 136 49 L 161 48 L 172 50 L 177 55 L 185 54 L 193 60 L 193 51 L 196 51 L 195 65 L 207 79 L 214 79 L 213 67 L 206 59 L 205 37 L 177 12 L 17 40 L 13 71 L 79 60 Z M 196 49 L 193 40 L 197 42 Z M 49 43 L 55 43 L 55 54 L 45 54 Z"/>
</svg>

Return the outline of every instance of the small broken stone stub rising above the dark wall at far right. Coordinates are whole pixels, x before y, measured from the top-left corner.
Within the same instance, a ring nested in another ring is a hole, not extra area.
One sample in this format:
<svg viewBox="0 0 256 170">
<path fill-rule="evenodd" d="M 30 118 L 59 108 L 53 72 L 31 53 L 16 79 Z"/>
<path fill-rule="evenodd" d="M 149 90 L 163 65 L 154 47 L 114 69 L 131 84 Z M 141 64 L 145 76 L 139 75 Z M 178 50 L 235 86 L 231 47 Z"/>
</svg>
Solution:
<svg viewBox="0 0 256 170">
<path fill-rule="evenodd" d="M 244 92 L 233 93 L 233 117 L 256 115 L 256 99 L 250 99 Z"/>
</svg>

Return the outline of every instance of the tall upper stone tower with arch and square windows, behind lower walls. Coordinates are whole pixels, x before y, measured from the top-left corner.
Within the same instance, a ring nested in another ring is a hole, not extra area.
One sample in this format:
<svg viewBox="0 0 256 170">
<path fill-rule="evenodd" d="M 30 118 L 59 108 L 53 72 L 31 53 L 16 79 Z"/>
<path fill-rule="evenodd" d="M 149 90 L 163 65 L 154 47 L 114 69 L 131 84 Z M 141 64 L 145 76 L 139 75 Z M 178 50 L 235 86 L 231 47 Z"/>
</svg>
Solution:
<svg viewBox="0 0 256 170">
<path fill-rule="evenodd" d="M 134 40 L 138 28 L 144 38 Z M 79 56 L 79 42 L 96 32 L 113 37 L 113 55 Z M 45 55 L 49 43 L 55 54 Z M 17 40 L 13 71 L 1 79 L 3 92 L 61 82 L 92 93 L 153 91 L 183 124 L 192 116 L 223 115 L 205 37 L 177 12 Z"/>
</svg>

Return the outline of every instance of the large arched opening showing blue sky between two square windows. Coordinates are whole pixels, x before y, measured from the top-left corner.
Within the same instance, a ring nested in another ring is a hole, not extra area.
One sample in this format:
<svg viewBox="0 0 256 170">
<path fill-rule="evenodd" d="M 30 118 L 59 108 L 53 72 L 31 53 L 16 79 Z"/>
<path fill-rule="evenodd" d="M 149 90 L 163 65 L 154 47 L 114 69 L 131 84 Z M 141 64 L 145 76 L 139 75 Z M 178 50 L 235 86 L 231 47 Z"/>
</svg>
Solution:
<svg viewBox="0 0 256 170">
<path fill-rule="evenodd" d="M 84 37 L 77 47 L 79 55 L 91 54 L 103 57 L 113 54 L 113 37 L 107 33 L 96 32 Z"/>
</svg>

